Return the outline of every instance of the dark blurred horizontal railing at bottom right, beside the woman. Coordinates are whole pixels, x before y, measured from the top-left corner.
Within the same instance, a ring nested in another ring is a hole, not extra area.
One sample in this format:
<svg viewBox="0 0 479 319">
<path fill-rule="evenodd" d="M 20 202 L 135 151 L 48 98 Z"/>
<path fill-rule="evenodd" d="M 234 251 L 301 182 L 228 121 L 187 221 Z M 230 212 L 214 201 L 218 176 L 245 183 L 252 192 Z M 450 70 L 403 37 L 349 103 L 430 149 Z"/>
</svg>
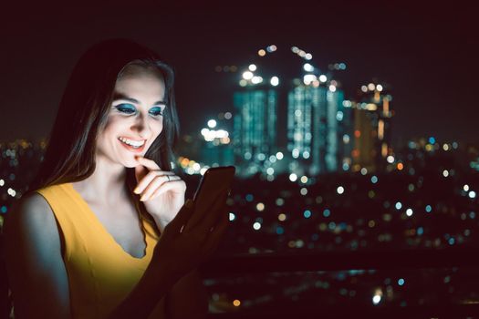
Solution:
<svg viewBox="0 0 479 319">
<path fill-rule="evenodd" d="M 348 270 L 420 270 L 467 267 L 479 270 L 479 250 L 442 249 L 300 254 L 245 254 L 217 257 L 203 264 L 204 278 L 249 273 L 338 272 Z M 479 283 L 478 283 L 479 285 Z M 278 287 L 280 288 L 280 287 Z M 479 289 L 479 287 L 478 287 Z M 320 300 L 318 300 L 320 304 Z M 479 303 L 411 306 L 275 305 L 234 313 L 209 314 L 209 318 L 479 318 Z"/>
</svg>

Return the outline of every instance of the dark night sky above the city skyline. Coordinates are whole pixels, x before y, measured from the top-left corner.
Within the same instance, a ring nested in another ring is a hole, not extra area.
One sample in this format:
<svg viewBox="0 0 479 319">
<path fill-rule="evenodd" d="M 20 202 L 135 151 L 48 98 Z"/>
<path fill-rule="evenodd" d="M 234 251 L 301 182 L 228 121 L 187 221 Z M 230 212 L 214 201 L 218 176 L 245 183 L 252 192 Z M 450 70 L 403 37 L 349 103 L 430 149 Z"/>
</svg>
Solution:
<svg viewBox="0 0 479 319">
<path fill-rule="evenodd" d="M 321 70 L 346 63 L 348 69 L 338 76 L 346 98 L 373 78 L 389 84 L 397 145 L 430 136 L 479 142 L 479 36 L 473 5 L 269 4 L 110 1 L 3 10 L 0 140 L 47 136 L 78 57 L 99 40 L 127 37 L 151 46 L 174 67 L 183 133 L 201 129 L 219 111 L 233 110 L 231 92 L 241 73 L 217 73 L 215 66 L 246 67 L 257 60 L 258 49 L 275 44 L 278 52 L 291 46 L 310 52 L 312 64 Z M 298 63 L 293 54 L 281 57 L 282 65 Z"/>
</svg>

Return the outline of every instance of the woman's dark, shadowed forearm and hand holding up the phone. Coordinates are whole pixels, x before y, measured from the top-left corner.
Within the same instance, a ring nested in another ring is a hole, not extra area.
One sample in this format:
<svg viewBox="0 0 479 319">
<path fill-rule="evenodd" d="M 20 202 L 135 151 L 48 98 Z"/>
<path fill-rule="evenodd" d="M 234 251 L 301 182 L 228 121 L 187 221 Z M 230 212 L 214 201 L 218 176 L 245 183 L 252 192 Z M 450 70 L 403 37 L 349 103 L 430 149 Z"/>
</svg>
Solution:
<svg viewBox="0 0 479 319">
<path fill-rule="evenodd" d="M 176 283 L 212 255 L 229 223 L 226 196 L 226 191 L 219 194 L 206 210 L 195 211 L 193 201 L 186 201 L 161 232 L 151 262 L 140 282 L 109 314 L 109 318 L 150 317 L 158 301 L 171 293 Z M 183 299 L 183 306 L 184 303 Z"/>
</svg>

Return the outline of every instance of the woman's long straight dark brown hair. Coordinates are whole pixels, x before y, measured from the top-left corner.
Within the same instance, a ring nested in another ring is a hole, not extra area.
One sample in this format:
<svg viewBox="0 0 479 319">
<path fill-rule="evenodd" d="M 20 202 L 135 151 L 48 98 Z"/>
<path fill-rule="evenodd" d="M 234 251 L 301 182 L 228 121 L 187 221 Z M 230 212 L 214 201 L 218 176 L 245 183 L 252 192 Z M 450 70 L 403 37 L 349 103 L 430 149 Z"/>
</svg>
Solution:
<svg viewBox="0 0 479 319">
<path fill-rule="evenodd" d="M 29 190 L 85 180 L 93 173 L 97 137 L 108 118 L 116 81 L 124 67 L 131 63 L 157 67 L 163 77 L 166 101 L 163 129 L 145 157 L 154 160 L 162 170 L 172 170 L 173 147 L 179 136 L 172 67 L 145 46 L 127 39 L 110 39 L 91 46 L 74 67 L 60 101 L 44 160 Z M 134 169 L 127 169 L 126 183 L 141 220 L 155 228 L 141 201 L 132 195 L 136 186 Z"/>
</svg>

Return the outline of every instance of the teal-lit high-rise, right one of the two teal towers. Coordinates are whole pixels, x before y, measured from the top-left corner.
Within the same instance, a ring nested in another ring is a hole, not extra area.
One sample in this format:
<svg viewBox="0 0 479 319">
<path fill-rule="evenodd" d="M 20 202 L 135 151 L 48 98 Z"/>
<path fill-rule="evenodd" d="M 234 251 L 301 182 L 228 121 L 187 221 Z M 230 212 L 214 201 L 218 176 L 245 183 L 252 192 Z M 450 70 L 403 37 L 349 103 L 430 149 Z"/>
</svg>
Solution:
<svg viewBox="0 0 479 319">
<path fill-rule="evenodd" d="M 343 91 L 336 85 L 294 81 L 287 105 L 287 150 L 295 159 L 293 172 L 317 175 L 350 162 L 350 108 L 343 102 Z"/>
</svg>

